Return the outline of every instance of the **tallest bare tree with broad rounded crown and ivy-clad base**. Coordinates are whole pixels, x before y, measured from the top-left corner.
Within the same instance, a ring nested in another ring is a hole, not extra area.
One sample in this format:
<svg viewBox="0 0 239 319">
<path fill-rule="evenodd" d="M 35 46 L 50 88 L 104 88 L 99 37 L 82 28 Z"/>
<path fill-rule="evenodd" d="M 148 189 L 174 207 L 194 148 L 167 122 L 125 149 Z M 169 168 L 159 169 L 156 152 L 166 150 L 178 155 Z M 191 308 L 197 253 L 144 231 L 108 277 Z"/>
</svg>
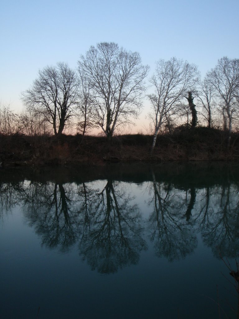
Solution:
<svg viewBox="0 0 239 319">
<path fill-rule="evenodd" d="M 130 117 L 138 116 L 149 69 L 141 64 L 139 53 L 102 42 L 91 46 L 78 64 L 90 80 L 95 121 L 105 135 L 112 137 L 117 127 L 132 124 Z"/>
</svg>

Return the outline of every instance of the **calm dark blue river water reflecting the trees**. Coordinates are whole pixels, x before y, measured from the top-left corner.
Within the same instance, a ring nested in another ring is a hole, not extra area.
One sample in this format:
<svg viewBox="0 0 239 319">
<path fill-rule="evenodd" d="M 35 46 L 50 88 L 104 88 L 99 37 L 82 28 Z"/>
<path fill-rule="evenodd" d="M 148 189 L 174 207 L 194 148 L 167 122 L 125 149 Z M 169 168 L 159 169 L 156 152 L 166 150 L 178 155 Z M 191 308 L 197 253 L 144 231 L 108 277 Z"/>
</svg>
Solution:
<svg viewBox="0 0 239 319">
<path fill-rule="evenodd" d="M 0 191 L 1 318 L 236 318 L 237 164 L 1 170 Z"/>
</svg>

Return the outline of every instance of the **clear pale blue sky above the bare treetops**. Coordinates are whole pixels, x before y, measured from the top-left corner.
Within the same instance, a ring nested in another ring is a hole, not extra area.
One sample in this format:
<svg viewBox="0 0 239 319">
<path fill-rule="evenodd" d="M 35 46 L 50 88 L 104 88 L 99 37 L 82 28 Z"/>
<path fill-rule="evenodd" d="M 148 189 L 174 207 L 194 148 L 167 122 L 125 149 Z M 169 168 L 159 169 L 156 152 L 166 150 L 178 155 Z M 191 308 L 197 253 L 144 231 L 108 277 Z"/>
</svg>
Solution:
<svg viewBox="0 0 239 319">
<path fill-rule="evenodd" d="M 20 93 L 38 70 L 76 68 L 98 42 L 138 51 L 154 72 L 171 57 L 198 66 L 202 78 L 223 56 L 239 58 L 239 0 L 8 0 L 0 5 L 0 102 L 23 109 Z M 146 101 L 139 125 L 147 114 Z"/>
</svg>

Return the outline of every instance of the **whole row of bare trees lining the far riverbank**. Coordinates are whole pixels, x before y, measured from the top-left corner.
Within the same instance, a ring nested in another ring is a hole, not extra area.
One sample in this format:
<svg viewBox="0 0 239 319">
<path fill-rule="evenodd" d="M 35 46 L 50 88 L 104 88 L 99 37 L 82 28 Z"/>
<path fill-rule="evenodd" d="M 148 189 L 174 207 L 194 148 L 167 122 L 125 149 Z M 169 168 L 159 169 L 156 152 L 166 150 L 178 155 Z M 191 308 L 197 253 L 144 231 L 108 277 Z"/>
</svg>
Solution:
<svg viewBox="0 0 239 319">
<path fill-rule="evenodd" d="M 25 105 L 23 126 L 27 133 L 38 133 L 29 127 L 34 117 L 38 130 L 45 132 L 50 124 L 54 134 L 59 135 L 77 116 L 83 135 L 96 126 L 111 138 L 117 129 L 133 124 L 147 97 L 151 105 L 148 119 L 154 134 L 153 148 L 160 130 L 166 126 L 170 131 L 182 124 L 182 116 L 186 115 L 187 125 L 195 126 L 197 110 L 208 127 L 213 125 L 217 110 L 223 128 L 231 133 L 239 111 L 239 59 L 221 58 L 203 81 L 192 63 L 175 57 L 159 60 L 149 78 L 149 94 L 145 92 L 148 71 L 138 52 L 119 48 L 113 42 L 91 46 L 80 56 L 77 70 L 70 69 L 67 63 L 39 70 L 32 87 L 21 93 Z"/>
</svg>

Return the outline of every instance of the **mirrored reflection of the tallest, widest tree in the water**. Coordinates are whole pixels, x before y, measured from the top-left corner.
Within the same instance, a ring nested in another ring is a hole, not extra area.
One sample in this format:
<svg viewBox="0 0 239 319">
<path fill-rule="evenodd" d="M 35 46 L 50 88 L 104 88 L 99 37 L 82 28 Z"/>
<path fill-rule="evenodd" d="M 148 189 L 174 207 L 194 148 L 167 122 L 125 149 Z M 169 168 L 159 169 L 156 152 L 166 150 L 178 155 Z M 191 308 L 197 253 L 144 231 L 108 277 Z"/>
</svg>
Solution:
<svg viewBox="0 0 239 319">
<path fill-rule="evenodd" d="M 123 266 L 136 264 L 140 251 L 146 249 L 141 237 L 141 214 L 136 204 L 130 204 L 131 200 L 120 183 L 112 180 L 98 193 L 91 227 L 87 227 L 79 245 L 80 254 L 92 270 L 114 273 Z"/>
</svg>

